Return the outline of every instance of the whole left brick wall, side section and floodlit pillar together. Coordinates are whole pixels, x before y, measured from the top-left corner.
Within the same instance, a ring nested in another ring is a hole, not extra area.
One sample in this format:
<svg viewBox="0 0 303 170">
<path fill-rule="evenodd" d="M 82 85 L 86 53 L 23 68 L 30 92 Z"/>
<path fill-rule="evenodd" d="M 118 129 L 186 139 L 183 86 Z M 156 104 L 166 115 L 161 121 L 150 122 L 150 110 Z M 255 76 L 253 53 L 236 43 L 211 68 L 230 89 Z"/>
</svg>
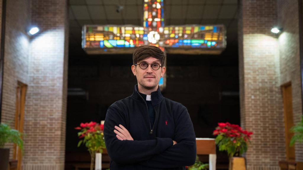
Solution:
<svg viewBox="0 0 303 170">
<path fill-rule="evenodd" d="M 17 82 L 27 84 L 25 170 L 64 168 L 68 66 L 66 23 L 66 1 L 7 1 L 1 121 L 14 127 Z M 30 25 L 37 25 L 41 32 L 29 37 L 26 31 Z M 12 149 L 13 145 L 6 147 Z"/>
</svg>

